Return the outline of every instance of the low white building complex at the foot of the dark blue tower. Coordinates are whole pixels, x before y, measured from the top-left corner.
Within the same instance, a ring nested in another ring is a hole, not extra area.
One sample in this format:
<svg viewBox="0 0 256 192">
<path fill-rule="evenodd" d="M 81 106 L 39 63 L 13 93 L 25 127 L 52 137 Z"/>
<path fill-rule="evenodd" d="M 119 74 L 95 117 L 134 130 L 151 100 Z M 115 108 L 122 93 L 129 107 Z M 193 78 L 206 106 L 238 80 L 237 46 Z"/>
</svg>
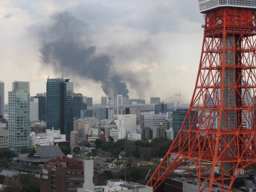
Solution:
<svg viewBox="0 0 256 192">
<path fill-rule="evenodd" d="M 47 129 L 46 133 L 30 133 L 31 148 L 38 144 L 41 146 L 54 145 L 54 142 L 66 141 L 66 135 L 60 134 L 60 130 Z"/>
</svg>

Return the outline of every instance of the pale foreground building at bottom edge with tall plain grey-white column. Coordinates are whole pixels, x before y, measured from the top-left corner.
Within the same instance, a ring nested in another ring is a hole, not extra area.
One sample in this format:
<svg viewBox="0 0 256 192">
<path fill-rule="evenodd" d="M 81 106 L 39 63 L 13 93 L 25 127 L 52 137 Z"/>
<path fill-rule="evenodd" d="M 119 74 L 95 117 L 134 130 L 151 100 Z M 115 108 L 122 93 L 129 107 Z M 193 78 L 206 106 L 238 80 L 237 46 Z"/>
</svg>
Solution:
<svg viewBox="0 0 256 192">
<path fill-rule="evenodd" d="M 94 186 L 93 183 L 93 160 L 84 160 L 84 183 L 77 192 L 96 192 L 96 191 L 120 191 L 120 192 L 153 192 L 153 187 L 138 183 L 125 182 L 122 180 L 108 180 L 107 185 Z M 44 191 L 42 191 L 44 192 Z"/>
</svg>

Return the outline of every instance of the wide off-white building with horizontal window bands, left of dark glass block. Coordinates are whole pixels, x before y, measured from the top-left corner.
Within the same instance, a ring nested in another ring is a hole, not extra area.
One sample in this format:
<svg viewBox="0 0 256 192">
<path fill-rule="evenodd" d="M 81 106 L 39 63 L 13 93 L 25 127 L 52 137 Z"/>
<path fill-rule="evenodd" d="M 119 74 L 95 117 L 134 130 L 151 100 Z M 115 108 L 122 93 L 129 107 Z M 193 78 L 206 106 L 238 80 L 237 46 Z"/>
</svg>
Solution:
<svg viewBox="0 0 256 192">
<path fill-rule="evenodd" d="M 145 114 L 144 115 L 144 126 L 148 126 L 151 129 L 153 127 L 159 127 L 162 124 L 162 127 L 166 130 L 166 118 L 165 115 L 160 114 Z"/>
</svg>

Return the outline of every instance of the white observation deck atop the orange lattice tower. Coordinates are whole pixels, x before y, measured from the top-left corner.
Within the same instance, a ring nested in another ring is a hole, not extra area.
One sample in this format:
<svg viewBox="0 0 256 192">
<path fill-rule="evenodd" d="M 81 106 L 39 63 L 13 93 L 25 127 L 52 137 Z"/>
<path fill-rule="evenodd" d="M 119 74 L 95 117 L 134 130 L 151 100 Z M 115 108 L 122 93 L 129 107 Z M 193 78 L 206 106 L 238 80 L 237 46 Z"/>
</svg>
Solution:
<svg viewBox="0 0 256 192">
<path fill-rule="evenodd" d="M 256 8 L 255 0 L 198 0 L 200 12 L 205 12 L 217 7 L 244 7 Z"/>
</svg>

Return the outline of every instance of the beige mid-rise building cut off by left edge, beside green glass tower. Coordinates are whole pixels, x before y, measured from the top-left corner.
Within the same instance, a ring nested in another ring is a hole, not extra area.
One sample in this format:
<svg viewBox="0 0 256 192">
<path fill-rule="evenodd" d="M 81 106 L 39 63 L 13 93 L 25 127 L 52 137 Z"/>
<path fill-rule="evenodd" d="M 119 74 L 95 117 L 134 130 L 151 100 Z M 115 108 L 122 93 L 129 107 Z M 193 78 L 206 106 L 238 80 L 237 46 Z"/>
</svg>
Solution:
<svg viewBox="0 0 256 192">
<path fill-rule="evenodd" d="M 0 115 L 0 149 L 8 148 L 8 121 Z"/>
</svg>

